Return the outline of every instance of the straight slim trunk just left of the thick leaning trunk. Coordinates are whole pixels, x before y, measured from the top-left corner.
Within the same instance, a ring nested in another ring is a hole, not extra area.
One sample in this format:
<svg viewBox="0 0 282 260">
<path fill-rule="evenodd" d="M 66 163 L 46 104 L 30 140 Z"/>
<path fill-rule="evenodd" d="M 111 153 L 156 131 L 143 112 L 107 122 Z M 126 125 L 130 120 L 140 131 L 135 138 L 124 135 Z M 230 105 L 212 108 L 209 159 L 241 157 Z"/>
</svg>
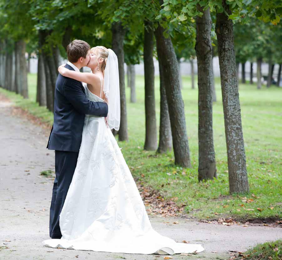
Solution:
<svg viewBox="0 0 282 260">
<path fill-rule="evenodd" d="M 144 78 L 145 78 L 145 122 L 146 134 L 144 150 L 157 148 L 157 125 L 155 108 L 155 68 L 154 68 L 153 24 L 144 22 Z"/>
</svg>

